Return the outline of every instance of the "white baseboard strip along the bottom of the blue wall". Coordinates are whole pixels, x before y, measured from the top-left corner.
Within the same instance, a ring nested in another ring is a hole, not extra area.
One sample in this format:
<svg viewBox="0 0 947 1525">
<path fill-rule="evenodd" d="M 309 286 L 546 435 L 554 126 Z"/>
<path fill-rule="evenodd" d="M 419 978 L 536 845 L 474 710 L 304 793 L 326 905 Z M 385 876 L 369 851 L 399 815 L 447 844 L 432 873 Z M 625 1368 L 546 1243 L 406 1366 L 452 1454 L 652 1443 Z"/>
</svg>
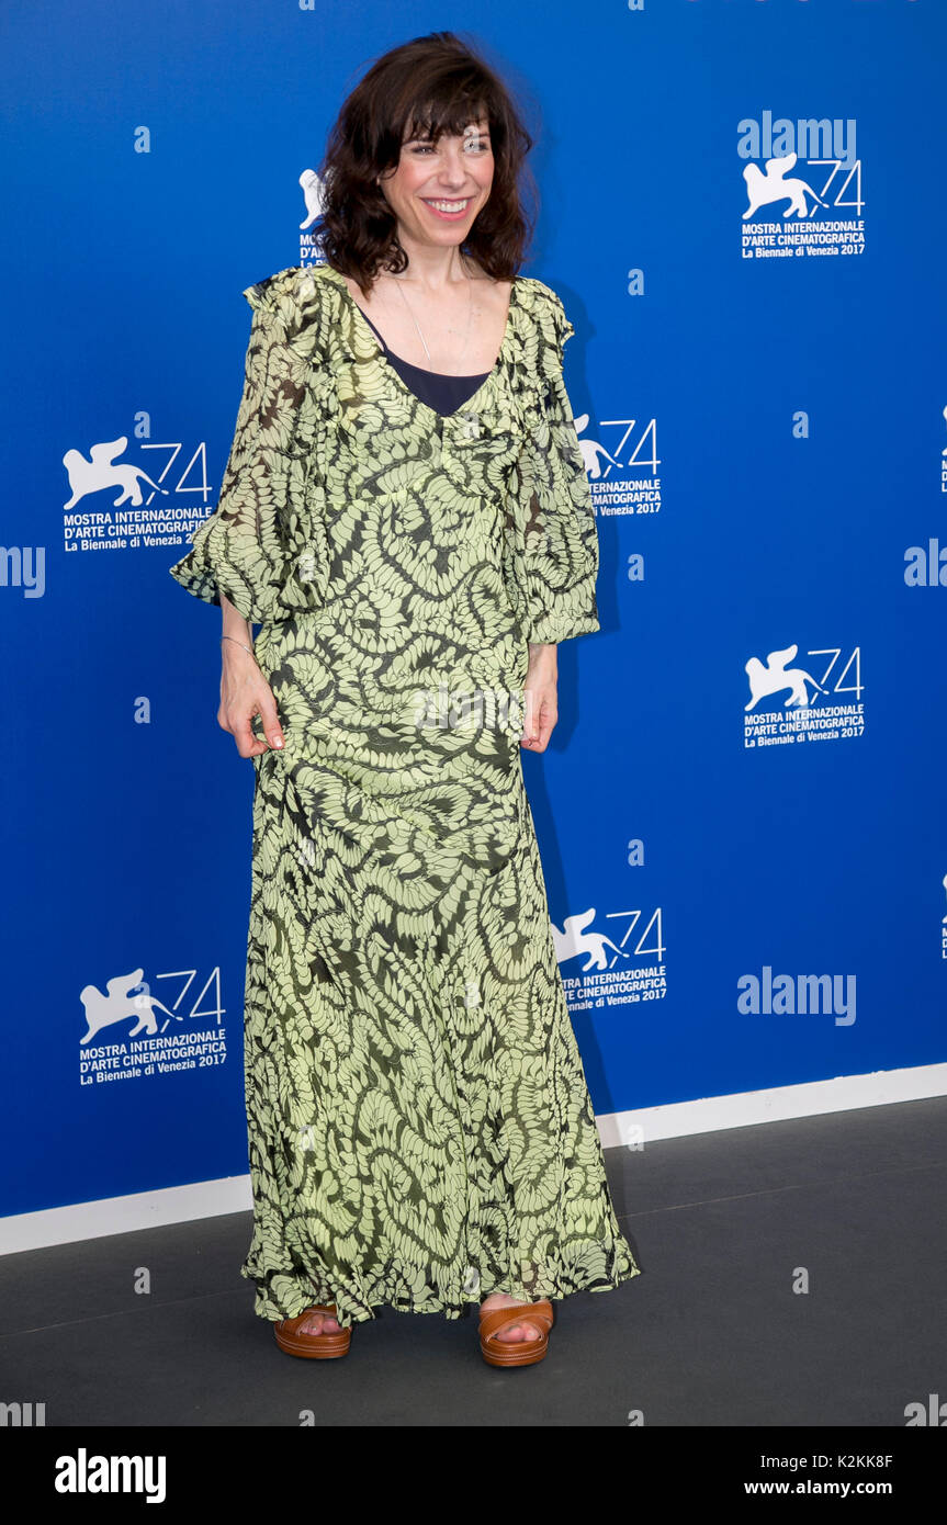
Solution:
<svg viewBox="0 0 947 1525">
<path fill-rule="evenodd" d="M 920 1101 L 947 1095 L 947 1064 L 921 1064 L 917 1069 L 880 1069 L 871 1075 L 839 1075 L 802 1086 L 776 1086 L 772 1090 L 746 1090 L 734 1096 L 705 1096 L 676 1101 L 666 1107 L 639 1112 L 607 1112 L 596 1118 L 604 1148 L 639 1147 L 656 1139 L 717 1133 L 721 1128 L 747 1128 L 787 1118 L 811 1118 L 827 1112 L 852 1112 L 857 1107 L 888 1107 L 897 1101 Z M 160 1191 L 136 1191 L 128 1197 L 76 1202 L 66 1208 L 44 1208 L 0 1218 L 0 1255 L 15 1255 L 49 1244 L 75 1244 L 76 1240 L 108 1234 L 134 1234 L 137 1229 L 166 1223 L 191 1223 L 224 1212 L 250 1212 L 250 1176 L 224 1176 L 197 1180 Z"/>
</svg>

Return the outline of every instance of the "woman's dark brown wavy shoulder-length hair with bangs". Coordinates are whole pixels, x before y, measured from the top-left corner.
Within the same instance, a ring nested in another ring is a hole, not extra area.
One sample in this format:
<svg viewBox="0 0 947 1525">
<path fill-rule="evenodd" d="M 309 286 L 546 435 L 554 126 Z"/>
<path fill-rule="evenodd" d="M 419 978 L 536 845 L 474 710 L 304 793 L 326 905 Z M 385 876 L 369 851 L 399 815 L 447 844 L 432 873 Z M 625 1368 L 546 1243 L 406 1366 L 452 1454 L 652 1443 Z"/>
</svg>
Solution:
<svg viewBox="0 0 947 1525">
<path fill-rule="evenodd" d="M 512 279 L 535 227 L 538 192 L 526 154 L 534 139 L 503 81 L 454 32 L 429 32 L 378 58 L 351 92 L 319 166 L 319 252 L 368 294 L 380 270 L 400 274 L 407 253 L 375 177 L 398 165 L 413 137 L 462 134 L 486 117 L 494 177 L 486 204 L 461 244 L 494 281 Z M 525 181 L 531 206 L 520 192 Z"/>
</svg>

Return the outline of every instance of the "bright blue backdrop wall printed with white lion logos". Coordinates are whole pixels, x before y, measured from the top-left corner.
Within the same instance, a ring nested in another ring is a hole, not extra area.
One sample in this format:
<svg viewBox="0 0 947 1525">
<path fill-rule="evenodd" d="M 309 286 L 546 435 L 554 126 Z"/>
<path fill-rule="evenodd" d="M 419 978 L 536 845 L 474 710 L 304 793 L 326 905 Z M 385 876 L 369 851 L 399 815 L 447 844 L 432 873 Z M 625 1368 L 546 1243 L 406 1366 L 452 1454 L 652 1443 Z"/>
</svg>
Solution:
<svg viewBox="0 0 947 1525">
<path fill-rule="evenodd" d="M 253 772 L 220 613 L 168 567 L 215 505 L 242 288 L 314 258 L 342 99 L 439 27 L 535 128 L 523 273 L 576 329 L 602 630 L 523 766 L 596 1112 L 944 1055 L 945 9 L 470 14 L 0 20 L 5 1214 L 247 1168 Z"/>
</svg>

